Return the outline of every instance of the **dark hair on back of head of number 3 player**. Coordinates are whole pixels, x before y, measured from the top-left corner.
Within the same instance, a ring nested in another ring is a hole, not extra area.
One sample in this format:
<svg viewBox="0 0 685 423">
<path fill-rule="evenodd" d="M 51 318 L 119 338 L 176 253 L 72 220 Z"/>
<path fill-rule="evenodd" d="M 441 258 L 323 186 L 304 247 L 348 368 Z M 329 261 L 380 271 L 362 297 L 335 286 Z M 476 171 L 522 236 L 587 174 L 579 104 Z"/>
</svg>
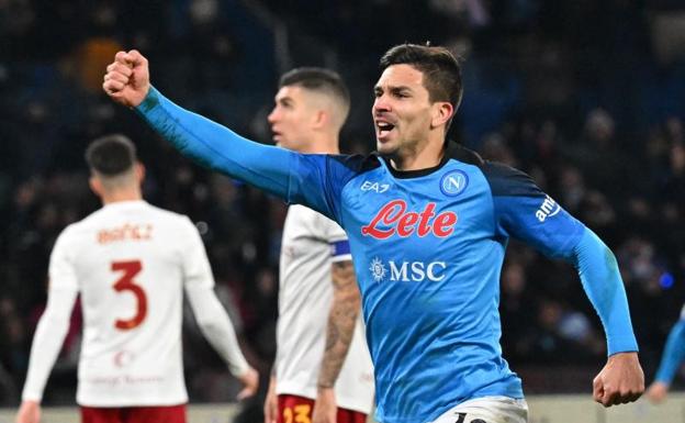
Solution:
<svg viewBox="0 0 685 423">
<path fill-rule="evenodd" d="M 102 176 L 116 176 L 130 170 L 136 162 L 136 148 L 121 134 L 97 138 L 86 149 L 86 163 Z"/>
</svg>

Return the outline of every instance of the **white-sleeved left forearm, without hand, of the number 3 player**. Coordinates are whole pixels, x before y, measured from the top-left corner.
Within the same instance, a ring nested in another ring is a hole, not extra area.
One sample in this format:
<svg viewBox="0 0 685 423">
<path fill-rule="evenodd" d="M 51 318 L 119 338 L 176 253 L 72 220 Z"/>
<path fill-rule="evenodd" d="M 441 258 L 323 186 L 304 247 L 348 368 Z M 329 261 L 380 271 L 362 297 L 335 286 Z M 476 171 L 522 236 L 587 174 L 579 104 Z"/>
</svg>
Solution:
<svg viewBox="0 0 685 423">
<path fill-rule="evenodd" d="M 69 330 L 76 296 L 77 292 L 72 290 L 50 291 L 47 307 L 33 336 L 22 400 L 41 402 L 43 399 L 45 383 Z"/>
</svg>

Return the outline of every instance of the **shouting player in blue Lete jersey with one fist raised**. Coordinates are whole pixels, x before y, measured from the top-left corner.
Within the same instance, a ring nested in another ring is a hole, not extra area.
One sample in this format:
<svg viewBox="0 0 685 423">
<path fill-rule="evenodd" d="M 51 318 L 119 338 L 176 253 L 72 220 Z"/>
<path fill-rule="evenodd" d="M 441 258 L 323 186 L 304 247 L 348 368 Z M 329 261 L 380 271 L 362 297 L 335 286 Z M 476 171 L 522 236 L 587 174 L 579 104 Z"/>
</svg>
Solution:
<svg viewBox="0 0 685 423">
<path fill-rule="evenodd" d="M 593 381 L 605 407 L 644 389 L 618 266 L 609 248 L 527 175 L 446 140 L 461 70 L 442 47 L 398 45 L 381 58 L 372 116 L 378 153 L 304 155 L 260 145 L 189 112 L 120 52 L 103 89 L 179 151 L 338 222 L 349 236 L 383 423 L 521 423 L 520 379 L 499 346 L 499 271 L 509 237 L 579 270 L 604 325 L 608 359 Z"/>
</svg>

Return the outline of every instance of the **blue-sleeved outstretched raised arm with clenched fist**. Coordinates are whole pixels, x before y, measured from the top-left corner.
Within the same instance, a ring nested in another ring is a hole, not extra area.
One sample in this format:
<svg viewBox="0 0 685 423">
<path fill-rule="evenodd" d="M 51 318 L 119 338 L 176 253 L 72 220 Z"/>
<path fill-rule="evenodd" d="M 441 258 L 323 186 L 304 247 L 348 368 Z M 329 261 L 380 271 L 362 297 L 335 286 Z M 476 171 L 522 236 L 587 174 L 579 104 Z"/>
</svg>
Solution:
<svg viewBox="0 0 685 423">
<path fill-rule="evenodd" d="M 334 209 L 349 178 L 340 175 L 346 172 L 345 166 L 330 166 L 329 156 L 262 145 L 180 108 L 150 86 L 147 60 L 135 51 L 117 53 L 104 78 L 104 91 L 114 101 L 135 107 L 183 155 L 337 220 Z"/>
</svg>

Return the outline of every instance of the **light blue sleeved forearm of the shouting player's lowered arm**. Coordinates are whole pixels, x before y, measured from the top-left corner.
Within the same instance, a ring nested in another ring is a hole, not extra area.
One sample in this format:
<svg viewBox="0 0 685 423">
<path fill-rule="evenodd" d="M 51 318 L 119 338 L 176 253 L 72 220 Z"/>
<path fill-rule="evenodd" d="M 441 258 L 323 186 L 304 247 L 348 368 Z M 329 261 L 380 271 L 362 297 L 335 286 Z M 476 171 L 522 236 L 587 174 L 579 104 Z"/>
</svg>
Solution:
<svg viewBox="0 0 685 423">
<path fill-rule="evenodd" d="M 616 257 L 591 230 L 574 248 L 575 265 L 607 336 L 608 354 L 637 352 L 626 289 Z"/>
</svg>

